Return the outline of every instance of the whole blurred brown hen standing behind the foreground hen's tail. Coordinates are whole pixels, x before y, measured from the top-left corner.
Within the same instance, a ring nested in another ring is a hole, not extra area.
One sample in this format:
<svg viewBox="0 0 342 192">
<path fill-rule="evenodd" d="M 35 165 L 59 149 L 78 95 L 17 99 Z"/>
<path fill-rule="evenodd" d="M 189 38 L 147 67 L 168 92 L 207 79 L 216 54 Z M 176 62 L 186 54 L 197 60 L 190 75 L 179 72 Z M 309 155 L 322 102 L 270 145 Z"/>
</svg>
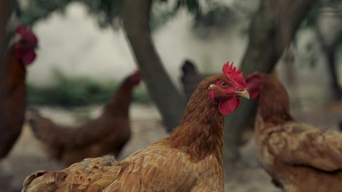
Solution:
<svg viewBox="0 0 342 192">
<path fill-rule="evenodd" d="M 29 124 L 34 135 L 44 143 L 47 153 L 65 166 L 87 157 L 118 155 L 130 137 L 128 107 L 132 88 L 141 81 L 137 71 L 120 85 L 102 115 L 77 128 L 57 126 L 32 112 Z"/>
</svg>

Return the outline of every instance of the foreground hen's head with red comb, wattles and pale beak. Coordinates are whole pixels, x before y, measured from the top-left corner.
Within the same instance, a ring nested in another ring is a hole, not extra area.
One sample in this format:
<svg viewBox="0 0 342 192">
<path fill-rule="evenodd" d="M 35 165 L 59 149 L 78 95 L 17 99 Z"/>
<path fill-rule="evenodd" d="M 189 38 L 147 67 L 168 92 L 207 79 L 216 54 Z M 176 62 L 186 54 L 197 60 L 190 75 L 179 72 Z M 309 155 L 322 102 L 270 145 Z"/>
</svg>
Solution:
<svg viewBox="0 0 342 192">
<path fill-rule="evenodd" d="M 227 62 L 222 70 L 224 74 L 214 76 L 214 82 L 208 87 L 208 94 L 212 102 L 218 104 L 219 112 L 228 115 L 238 107 L 239 97 L 249 99 L 249 95 L 240 69 L 236 71 L 233 63 L 229 65 Z"/>
</svg>

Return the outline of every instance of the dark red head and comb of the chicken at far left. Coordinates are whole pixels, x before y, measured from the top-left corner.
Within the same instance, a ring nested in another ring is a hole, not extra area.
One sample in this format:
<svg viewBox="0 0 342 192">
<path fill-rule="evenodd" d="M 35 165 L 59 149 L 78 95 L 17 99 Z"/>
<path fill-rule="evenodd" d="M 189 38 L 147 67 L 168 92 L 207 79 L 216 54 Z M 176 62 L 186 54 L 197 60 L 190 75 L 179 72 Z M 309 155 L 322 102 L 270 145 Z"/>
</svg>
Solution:
<svg viewBox="0 0 342 192">
<path fill-rule="evenodd" d="M 15 33 L 20 39 L 15 43 L 15 55 L 23 65 L 29 65 L 35 58 L 34 49 L 37 47 L 38 39 L 30 28 L 18 25 Z"/>
</svg>

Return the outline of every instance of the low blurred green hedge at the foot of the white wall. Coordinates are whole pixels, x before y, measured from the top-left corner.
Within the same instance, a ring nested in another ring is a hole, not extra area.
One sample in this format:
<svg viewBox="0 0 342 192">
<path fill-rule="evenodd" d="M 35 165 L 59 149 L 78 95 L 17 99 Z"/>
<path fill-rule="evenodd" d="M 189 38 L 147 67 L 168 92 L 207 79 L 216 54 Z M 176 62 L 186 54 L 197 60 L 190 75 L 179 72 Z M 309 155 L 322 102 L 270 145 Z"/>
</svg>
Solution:
<svg viewBox="0 0 342 192">
<path fill-rule="evenodd" d="M 80 106 L 88 104 L 107 103 L 120 85 L 120 82 L 109 81 L 99 83 L 93 79 L 65 77 L 59 71 L 55 71 L 55 85 L 49 87 L 37 87 L 27 85 L 28 105 L 62 105 Z M 149 95 L 145 88 L 136 87 L 133 90 L 133 102 L 150 102 Z"/>
</svg>

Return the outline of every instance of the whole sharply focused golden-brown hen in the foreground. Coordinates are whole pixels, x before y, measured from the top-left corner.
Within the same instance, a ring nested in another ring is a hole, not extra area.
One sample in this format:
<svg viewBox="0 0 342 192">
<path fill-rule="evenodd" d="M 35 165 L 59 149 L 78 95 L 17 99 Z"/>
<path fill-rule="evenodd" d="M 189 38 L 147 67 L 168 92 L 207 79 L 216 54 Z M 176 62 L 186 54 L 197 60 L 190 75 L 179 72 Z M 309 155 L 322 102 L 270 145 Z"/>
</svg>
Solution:
<svg viewBox="0 0 342 192">
<path fill-rule="evenodd" d="M 248 98 L 242 74 L 205 78 L 192 94 L 179 126 L 169 137 L 121 162 L 85 159 L 62 171 L 38 171 L 22 192 L 223 192 L 223 116 Z"/>
</svg>

